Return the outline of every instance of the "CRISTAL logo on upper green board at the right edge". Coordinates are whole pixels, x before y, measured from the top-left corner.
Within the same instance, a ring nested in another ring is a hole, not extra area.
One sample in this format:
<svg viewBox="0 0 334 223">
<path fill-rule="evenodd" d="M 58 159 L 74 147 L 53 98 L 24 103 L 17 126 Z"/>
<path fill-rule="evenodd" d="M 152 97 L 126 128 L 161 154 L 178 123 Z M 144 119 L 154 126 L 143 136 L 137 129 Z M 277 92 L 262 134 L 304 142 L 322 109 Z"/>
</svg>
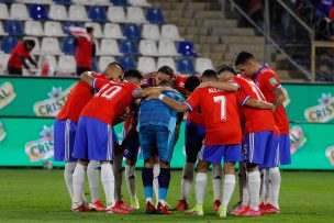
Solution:
<svg viewBox="0 0 334 223">
<path fill-rule="evenodd" d="M 332 93 L 322 93 L 318 100 L 319 105 L 311 107 L 304 111 L 304 115 L 310 122 L 330 122 L 334 119 L 334 97 Z"/>
</svg>

